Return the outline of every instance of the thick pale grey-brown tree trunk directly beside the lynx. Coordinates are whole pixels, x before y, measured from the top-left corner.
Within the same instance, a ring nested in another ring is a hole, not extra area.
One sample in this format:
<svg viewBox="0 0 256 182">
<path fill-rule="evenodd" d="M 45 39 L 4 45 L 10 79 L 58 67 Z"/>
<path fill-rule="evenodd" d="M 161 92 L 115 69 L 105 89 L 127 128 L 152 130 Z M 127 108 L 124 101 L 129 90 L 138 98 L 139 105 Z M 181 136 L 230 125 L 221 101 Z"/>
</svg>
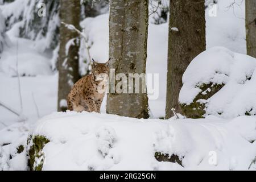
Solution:
<svg viewBox="0 0 256 182">
<path fill-rule="evenodd" d="M 110 68 L 115 75 L 125 73 L 146 73 L 147 58 L 148 0 L 111 0 L 109 15 L 109 56 L 112 58 Z M 111 75 L 110 75 L 111 76 Z M 113 75 L 112 75 L 113 76 Z M 142 76 L 144 80 L 145 75 Z M 148 97 L 142 92 L 142 80 L 133 81 L 133 87 L 140 88 L 138 93 L 113 93 L 117 86 L 114 76 L 110 77 L 110 92 L 107 101 L 107 113 L 126 117 L 148 118 Z M 113 85 L 112 85 L 113 84 Z"/>
</svg>

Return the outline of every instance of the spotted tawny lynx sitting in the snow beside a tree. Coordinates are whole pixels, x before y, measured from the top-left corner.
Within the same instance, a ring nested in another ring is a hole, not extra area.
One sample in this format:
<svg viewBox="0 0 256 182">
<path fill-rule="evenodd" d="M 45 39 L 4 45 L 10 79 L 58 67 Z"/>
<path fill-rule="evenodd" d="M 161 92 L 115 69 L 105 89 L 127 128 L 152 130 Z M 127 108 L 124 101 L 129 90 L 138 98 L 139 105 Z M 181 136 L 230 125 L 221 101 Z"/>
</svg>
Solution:
<svg viewBox="0 0 256 182">
<path fill-rule="evenodd" d="M 102 81 L 108 81 L 109 61 L 110 59 L 106 63 L 96 63 L 93 60 L 92 73 L 77 81 L 71 92 L 68 94 L 69 110 L 77 112 L 85 110 L 88 112 L 94 111 L 100 113 L 101 102 L 105 95 L 105 90 L 103 90 L 103 92 L 98 92 L 97 88 Z"/>
</svg>

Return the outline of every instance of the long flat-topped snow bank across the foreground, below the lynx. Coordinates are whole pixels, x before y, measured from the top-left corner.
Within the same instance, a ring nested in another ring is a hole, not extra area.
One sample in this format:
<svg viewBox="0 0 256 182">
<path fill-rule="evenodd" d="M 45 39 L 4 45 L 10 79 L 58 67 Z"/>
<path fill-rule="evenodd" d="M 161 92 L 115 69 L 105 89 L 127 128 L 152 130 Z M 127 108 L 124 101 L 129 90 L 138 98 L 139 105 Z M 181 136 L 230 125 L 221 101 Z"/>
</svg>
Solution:
<svg viewBox="0 0 256 182">
<path fill-rule="evenodd" d="M 68 111 L 40 119 L 31 136 L 49 140 L 43 170 L 233 170 L 255 158 L 255 128 L 254 116 L 164 121 Z M 183 167 L 155 152 L 177 155 Z"/>
</svg>

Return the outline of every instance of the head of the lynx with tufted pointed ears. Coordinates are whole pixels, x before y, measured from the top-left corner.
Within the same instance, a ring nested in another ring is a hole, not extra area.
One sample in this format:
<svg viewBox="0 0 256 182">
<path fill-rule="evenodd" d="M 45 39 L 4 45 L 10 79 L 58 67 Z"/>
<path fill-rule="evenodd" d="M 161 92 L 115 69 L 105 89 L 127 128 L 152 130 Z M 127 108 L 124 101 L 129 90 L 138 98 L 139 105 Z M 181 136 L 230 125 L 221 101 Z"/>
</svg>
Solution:
<svg viewBox="0 0 256 182">
<path fill-rule="evenodd" d="M 93 60 L 93 59 L 92 59 Z M 97 63 L 93 60 L 92 75 L 96 81 L 104 80 L 109 76 L 109 61 L 106 63 Z"/>
</svg>

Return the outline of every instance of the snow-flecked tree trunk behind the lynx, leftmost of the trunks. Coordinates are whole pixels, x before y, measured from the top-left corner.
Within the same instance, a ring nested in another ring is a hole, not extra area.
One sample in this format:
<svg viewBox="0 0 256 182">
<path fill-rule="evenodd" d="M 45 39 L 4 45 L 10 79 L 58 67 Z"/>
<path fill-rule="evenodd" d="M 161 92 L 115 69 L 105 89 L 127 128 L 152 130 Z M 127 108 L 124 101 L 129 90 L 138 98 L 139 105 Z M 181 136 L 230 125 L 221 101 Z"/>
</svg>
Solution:
<svg viewBox="0 0 256 182">
<path fill-rule="evenodd" d="M 79 27 L 80 1 L 61 0 L 60 20 Z M 67 96 L 73 84 L 79 80 L 79 35 L 60 26 L 58 110 L 67 109 Z"/>
</svg>

